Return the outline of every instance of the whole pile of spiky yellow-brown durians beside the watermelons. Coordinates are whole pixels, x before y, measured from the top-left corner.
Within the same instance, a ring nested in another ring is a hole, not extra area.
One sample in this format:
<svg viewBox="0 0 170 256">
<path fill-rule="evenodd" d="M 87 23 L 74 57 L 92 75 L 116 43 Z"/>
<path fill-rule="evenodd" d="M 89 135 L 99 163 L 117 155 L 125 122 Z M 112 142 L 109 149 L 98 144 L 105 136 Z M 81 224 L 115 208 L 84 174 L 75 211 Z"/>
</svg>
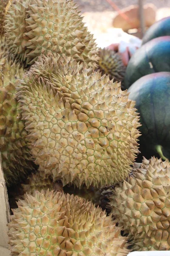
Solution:
<svg viewBox="0 0 170 256">
<path fill-rule="evenodd" d="M 12 190 L 18 200 L 8 224 L 13 256 L 170 250 L 170 163 L 134 163 L 139 115 L 103 74 L 101 51 L 72 0 L 0 2 L 0 153 L 9 199 Z"/>
</svg>

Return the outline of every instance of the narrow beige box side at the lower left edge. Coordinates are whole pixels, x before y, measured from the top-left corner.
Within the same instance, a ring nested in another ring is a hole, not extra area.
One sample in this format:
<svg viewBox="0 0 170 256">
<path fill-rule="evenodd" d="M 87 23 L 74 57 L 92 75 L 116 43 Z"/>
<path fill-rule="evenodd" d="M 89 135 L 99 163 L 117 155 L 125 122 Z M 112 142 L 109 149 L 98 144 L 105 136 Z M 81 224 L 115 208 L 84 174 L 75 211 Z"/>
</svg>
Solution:
<svg viewBox="0 0 170 256">
<path fill-rule="evenodd" d="M 9 256 L 8 250 L 8 227 L 10 220 L 10 211 L 8 203 L 8 194 L 3 175 L 1 157 L 0 157 L 0 256 Z"/>
</svg>

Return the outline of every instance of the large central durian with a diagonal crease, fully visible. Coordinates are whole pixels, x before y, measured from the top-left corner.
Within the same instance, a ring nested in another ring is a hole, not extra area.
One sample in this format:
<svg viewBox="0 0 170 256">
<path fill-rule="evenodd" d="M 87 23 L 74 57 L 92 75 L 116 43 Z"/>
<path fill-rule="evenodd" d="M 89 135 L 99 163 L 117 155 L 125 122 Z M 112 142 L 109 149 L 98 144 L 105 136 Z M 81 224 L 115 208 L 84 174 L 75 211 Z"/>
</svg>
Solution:
<svg viewBox="0 0 170 256">
<path fill-rule="evenodd" d="M 17 89 L 35 163 L 63 186 L 117 183 L 138 152 L 135 102 L 91 71 L 64 55 L 42 56 Z"/>
</svg>

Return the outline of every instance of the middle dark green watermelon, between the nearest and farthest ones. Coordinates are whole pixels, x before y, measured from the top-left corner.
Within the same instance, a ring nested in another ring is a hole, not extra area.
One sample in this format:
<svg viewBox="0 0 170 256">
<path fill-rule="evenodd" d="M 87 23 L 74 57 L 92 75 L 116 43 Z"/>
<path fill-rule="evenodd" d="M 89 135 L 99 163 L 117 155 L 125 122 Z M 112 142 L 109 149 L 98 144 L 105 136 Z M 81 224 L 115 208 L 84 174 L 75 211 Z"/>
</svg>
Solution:
<svg viewBox="0 0 170 256">
<path fill-rule="evenodd" d="M 170 72 L 170 36 L 155 38 L 133 54 L 125 73 L 125 88 L 142 76 L 162 71 Z"/>
</svg>

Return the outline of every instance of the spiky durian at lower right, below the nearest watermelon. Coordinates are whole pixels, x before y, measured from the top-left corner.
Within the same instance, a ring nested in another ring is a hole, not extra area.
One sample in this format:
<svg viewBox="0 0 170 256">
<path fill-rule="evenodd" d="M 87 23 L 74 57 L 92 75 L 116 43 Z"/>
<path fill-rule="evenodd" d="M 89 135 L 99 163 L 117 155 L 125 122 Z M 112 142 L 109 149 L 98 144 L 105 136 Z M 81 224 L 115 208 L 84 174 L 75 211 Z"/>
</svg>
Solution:
<svg viewBox="0 0 170 256">
<path fill-rule="evenodd" d="M 152 157 L 116 188 L 112 215 L 133 250 L 170 250 L 170 163 Z"/>
</svg>

